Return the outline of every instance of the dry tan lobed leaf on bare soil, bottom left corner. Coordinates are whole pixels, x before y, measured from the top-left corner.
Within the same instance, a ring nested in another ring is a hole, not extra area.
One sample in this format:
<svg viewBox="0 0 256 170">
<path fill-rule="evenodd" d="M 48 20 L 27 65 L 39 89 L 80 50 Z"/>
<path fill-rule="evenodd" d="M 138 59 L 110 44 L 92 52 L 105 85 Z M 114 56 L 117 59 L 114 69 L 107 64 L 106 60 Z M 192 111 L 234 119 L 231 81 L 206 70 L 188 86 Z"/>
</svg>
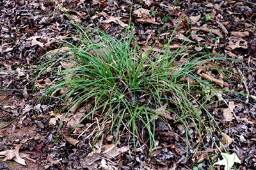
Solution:
<svg viewBox="0 0 256 170">
<path fill-rule="evenodd" d="M 23 158 L 20 157 L 19 155 L 19 150 L 20 150 L 20 144 L 16 146 L 16 148 L 14 150 L 6 150 L 6 151 L 1 151 L 0 155 L 3 155 L 5 158 L 3 161 L 6 160 L 15 160 L 15 162 L 26 166 L 26 162 Z"/>
</svg>

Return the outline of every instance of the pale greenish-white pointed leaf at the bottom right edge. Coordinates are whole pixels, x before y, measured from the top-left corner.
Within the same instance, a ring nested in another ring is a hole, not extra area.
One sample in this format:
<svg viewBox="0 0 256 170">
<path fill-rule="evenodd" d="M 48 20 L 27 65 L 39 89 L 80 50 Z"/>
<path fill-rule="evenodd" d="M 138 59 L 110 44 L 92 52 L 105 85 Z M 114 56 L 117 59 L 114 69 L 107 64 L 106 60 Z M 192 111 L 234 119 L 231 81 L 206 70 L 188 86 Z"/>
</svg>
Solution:
<svg viewBox="0 0 256 170">
<path fill-rule="evenodd" d="M 235 162 L 241 164 L 241 160 L 237 157 L 236 153 L 229 155 L 228 153 L 221 153 L 222 160 L 215 162 L 213 165 L 225 166 L 225 170 L 230 170 Z"/>
</svg>

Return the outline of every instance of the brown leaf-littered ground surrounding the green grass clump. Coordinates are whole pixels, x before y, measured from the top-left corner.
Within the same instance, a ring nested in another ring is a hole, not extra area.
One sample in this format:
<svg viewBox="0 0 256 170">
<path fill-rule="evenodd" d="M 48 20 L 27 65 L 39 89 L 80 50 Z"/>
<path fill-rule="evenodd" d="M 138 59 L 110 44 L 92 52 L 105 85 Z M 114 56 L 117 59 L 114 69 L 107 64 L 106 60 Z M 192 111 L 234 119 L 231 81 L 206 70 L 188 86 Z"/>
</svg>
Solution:
<svg viewBox="0 0 256 170">
<path fill-rule="evenodd" d="M 175 31 L 180 42 L 189 38 L 195 51 L 209 50 L 237 59 L 220 63 L 230 70 L 225 83 L 213 80 L 248 96 L 231 93 L 226 98 L 236 100 L 230 100 L 229 107 L 216 104 L 212 116 L 221 127 L 228 153 L 236 153 L 241 160 L 237 169 L 255 169 L 256 1 L 179 1 L 173 8 L 175 1 L 142 0 L 133 1 L 132 11 L 131 1 L 125 0 L 58 3 L 65 10 L 51 0 L 0 1 L 0 169 L 193 169 L 201 163 L 201 169 L 209 169 L 220 158 L 220 148 L 208 144 L 210 134 L 204 134 L 208 150 L 186 153 L 184 125 L 161 122 L 156 127 L 157 146 L 149 158 L 143 144 L 136 153 L 130 150 L 129 134 L 122 135 L 115 148 L 113 135 L 106 134 L 92 151 L 90 134 L 98 130 L 97 120 L 84 121 L 72 134 L 67 130 L 90 105 L 72 110 L 56 142 L 62 114 L 57 111 L 54 116 L 55 100 L 50 104 L 36 102 L 44 95 L 45 86 L 52 83 L 51 73 L 36 82 L 34 79 L 35 68 L 42 65 L 41 57 L 60 47 L 56 41 L 76 34 L 65 12 L 81 25 L 99 27 L 115 38 L 124 35 L 131 15 L 136 42 L 144 50 L 156 42 L 155 51 L 183 19 Z M 173 42 L 170 49 L 177 49 L 180 42 Z M 68 67 L 67 63 L 63 67 Z M 188 127 L 197 143 L 193 125 Z"/>
</svg>

